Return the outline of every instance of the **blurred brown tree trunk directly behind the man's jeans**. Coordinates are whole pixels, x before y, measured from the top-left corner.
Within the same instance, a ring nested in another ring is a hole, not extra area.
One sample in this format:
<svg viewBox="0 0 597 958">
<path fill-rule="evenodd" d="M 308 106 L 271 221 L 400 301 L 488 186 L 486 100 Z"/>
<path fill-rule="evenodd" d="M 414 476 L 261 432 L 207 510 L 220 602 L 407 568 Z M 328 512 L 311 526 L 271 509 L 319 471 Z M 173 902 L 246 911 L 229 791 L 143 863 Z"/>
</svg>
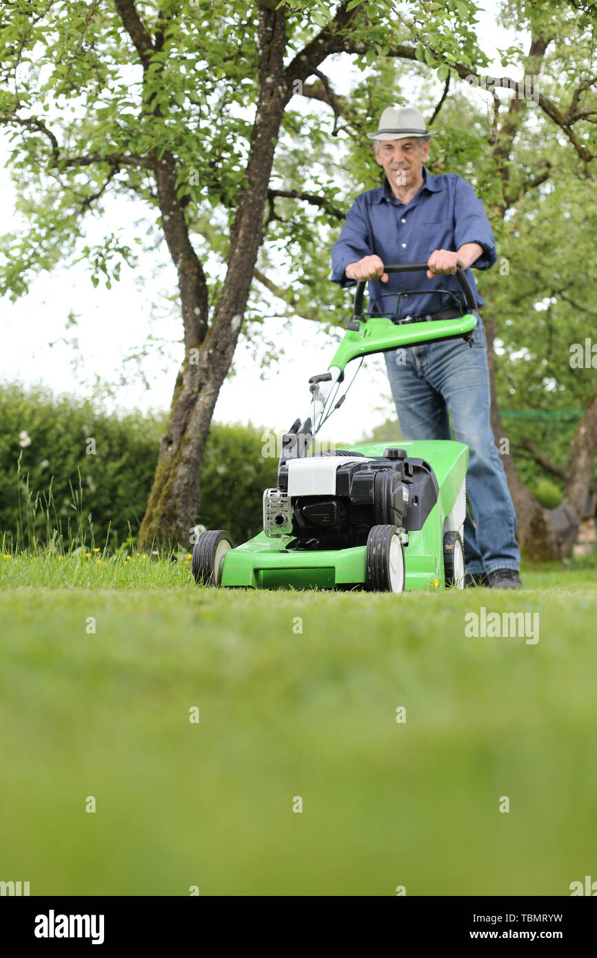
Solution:
<svg viewBox="0 0 597 958">
<path fill-rule="evenodd" d="M 494 337 L 495 318 L 489 313 L 488 307 L 483 309 L 483 324 L 487 333 L 487 357 L 490 367 L 490 381 L 492 393 L 492 428 L 494 430 L 495 445 L 500 447 L 500 440 L 506 439 L 504 427 L 499 415 L 499 406 L 495 392 L 494 376 Z M 500 449 L 501 451 L 501 449 Z M 508 452 L 503 456 L 504 470 L 512 495 L 512 501 L 517 512 L 517 541 L 521 553 L 531 561 L 545 561 L 558 556 L 556 537 L 551 528 L 540 502 L 527 489 L 520 473 L 517 470 L 514 457 Z"/>
</svg>

